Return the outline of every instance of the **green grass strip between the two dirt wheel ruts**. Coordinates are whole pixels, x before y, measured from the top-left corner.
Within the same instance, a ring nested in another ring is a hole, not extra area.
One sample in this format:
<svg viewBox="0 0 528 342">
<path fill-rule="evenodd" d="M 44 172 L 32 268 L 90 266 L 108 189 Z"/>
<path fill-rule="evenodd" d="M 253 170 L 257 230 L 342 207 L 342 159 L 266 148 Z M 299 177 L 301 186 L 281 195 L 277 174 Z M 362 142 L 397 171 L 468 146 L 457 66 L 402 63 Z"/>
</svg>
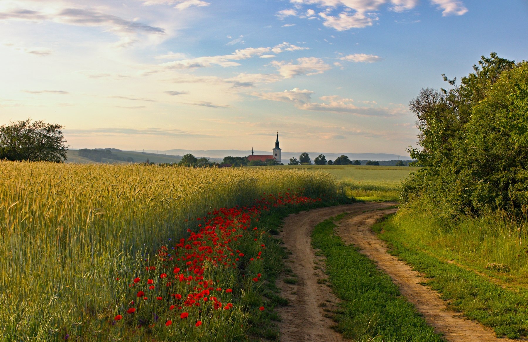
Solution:
<svg viewBox="0 0 528 342">
<path fill-rule="evenodd" d="M 360 341 L 442 341 L 414 306 L 400 297 L 389 276 L 334 235 L 337 219 L 319 223 L 312 233 L 313 247 L 327 258 L 332 290 L 344 300 L 334 316 L 336 330 Z"/>
</svg>

